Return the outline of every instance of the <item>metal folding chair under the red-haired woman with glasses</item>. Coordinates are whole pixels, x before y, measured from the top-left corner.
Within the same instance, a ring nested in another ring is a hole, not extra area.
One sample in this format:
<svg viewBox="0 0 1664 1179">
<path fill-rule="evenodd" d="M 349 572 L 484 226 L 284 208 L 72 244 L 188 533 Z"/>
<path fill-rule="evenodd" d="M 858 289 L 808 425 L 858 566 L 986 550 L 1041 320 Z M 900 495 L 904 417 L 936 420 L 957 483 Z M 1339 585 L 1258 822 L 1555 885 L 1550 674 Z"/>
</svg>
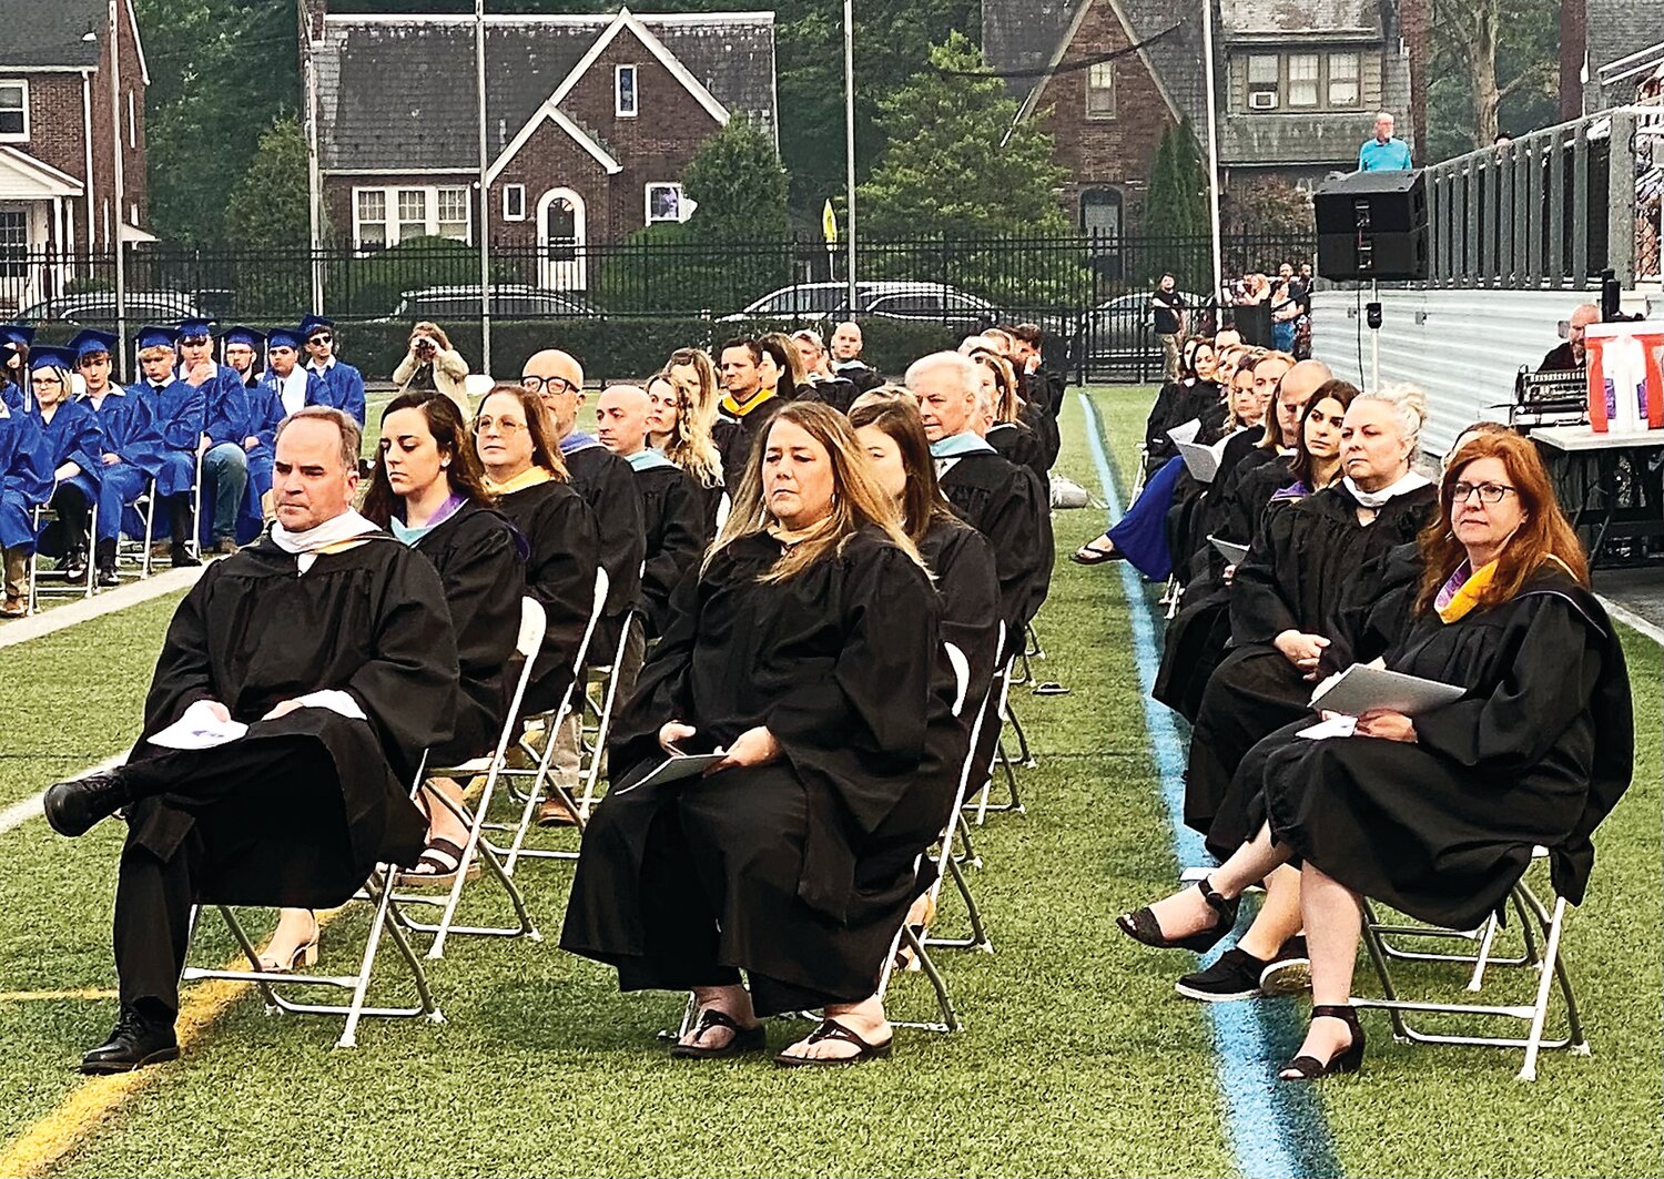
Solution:
<svg viewBox="0 0 1664 1179">
<path fill-rule="evenodd" d="M 1533 863 L 1548 860 L 1544 848 L 1533 850 Z M 1529 875 L 1529 873 L 1528 873 Z M 1374 1008 L 1386 1011 L 1393 1023 L 1393 1039 L 1414 1044 L 1476 1044 L 1484 1048 L 1523 1048 L 1526 1056 L 1519 1069 L 1521 1081 L 1536 1081 L 1538 1056 L 1543 1049 L 1566 1049 L 1574 1056 L 1589 1054 L 1589 1041 L 1582 1033 L 1582 1021 L 1577 1016 L 1577 999 L 1572 994 L 1571 976 L 1566 973 L 1566 953 L 1561 938 L 1566 926 L 1566 898 L 1556 896 L 1554 908 L 1549 910 L 1531 890 L 1526 876 L 1521 876 L 1509 893 L 1509 906 L 1519 916 L 1519 933 L 1523 948 L 1514 956 L 1498 956 L 1496 938 L 1499 923 L 1491 915 L 1478 930 L 1444 930 L 1428 925 L 1403 925 L 1383 921 L 1374 906 L 1364 901 L 1363 910 L 1363 943 L 1369 953 L 1376 979 L 1381 983 L 1381 998 L 1353 998 L 1354 1008 Z M 1541 938 L 1541 945 L 1539 945 Z M 1471 953 L 1439 953 L 1426 950 L 1409 950 L 1406 941 L 1461 941 L 1473 946 Z M 1423 1003 L 1399 998 L 1399 988 L 1393 978 L 1393 963 L 1451 963 L 1471 966 L 1468 991 L 1479 993 L 1486 974 L 1493 968 L 1516 968 L 1536 973 L 1534 1001 L 1526 1004 L 1501 1003 Z M 1554 989 L 1559 989 L 1566 1004 L 1566 1034 L 1558 1039 L 1546 1038 L 1549 1001 Z M 1409 1016 L 1464 1016 L 1464 1018 L 1504 1018 L 1521 1019 L 1529 1029 L 1519 1036 L 1476 1036 L 1428 1031 L 1413 1024 Z"/>
</svg>

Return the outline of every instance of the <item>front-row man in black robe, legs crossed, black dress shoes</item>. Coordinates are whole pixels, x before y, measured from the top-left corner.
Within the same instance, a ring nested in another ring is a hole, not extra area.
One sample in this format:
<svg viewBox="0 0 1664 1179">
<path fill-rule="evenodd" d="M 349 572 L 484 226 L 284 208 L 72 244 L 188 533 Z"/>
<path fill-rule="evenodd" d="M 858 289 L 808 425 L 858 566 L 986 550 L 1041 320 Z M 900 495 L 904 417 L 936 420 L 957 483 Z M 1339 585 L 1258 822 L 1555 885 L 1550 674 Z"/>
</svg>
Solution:
<svg viewBox="0 0 1664 1179">
<path fill-rule="evenodd" d="M 191 905 L 331 908 L 376 863 L 413 865 L 423 848 L 411 778 L 451 735 L 456 640 L 433 567 L 351 511 L 358 446 L 334 409 L 285 424 L 278 524 L 180 604 L 128 763 L 47 792 L 62 835 L 120 808 L 128 821 L 121 1014 L 85 1073 L 178 1056 Z M 233 722 L 246 733 L 208 748 L 175 735 Z"/>
</svg>

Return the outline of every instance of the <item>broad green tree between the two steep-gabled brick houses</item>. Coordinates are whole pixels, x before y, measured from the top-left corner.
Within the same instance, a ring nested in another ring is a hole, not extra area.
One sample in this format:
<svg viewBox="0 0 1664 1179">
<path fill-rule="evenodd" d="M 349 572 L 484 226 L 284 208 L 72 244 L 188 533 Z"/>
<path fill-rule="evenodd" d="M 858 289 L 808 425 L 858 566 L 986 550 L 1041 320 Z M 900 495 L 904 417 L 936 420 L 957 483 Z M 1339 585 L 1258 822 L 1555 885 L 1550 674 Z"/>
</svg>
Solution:
<svg viewBox="0 0 1664 1179">
<path fill-rule="evenodd" d="M 889 146 L 857 196 L 874 236 L 1065 233 L 1053 190 L 1068 173 L 1037 120 L 1013 126 L 1017 103 L 978 50 L 952 33 L 930 70 L 879 105 Z M 1008 133 L 1008 138 L 1007 138 Z"/>
</svg>

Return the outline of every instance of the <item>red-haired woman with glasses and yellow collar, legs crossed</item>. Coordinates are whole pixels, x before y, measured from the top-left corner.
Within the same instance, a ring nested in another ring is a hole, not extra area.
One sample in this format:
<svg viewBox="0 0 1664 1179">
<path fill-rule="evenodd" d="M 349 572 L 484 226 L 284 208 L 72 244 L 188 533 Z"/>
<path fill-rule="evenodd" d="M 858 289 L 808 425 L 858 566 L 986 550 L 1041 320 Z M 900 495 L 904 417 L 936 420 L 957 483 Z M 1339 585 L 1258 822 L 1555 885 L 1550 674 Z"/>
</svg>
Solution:
<svg viewBox="0 0 1664 1179">
<path fill-rule="evenodd" d="M 1196 888 L 1118 921 L 1145 945 L 1210 948 L 1236 925 L 1248 885 L 1298 863 L 1313 1008 L 1285 1081 L 1363 1063 L 1350 1006 L 1361 896 L 1471 930 L 1543 845 L 1556 891 L 1577 905 L 1589 835 L 1634 770 L 1624 654 L 1536 447 L 1469 439 L 1439 509 L 1419 537 L 1414 620 L 1386 667 L 1464 695 L 1413 718 L 1366 712 L 1351 737 L 1308 740 L 1301 720 L 1265 738 L 1238 770 L 1258 783 L 1258 833 Z"/>
</svg>

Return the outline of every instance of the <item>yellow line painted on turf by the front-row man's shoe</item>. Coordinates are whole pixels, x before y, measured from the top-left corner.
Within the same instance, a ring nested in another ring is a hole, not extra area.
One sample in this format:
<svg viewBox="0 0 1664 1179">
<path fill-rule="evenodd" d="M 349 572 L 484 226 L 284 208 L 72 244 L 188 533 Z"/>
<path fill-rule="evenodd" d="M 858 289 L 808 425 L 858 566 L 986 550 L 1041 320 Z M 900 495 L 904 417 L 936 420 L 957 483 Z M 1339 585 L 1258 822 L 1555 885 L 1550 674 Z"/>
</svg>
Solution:
<svg viewBox="0 0 1664 1179">
<path fill-rule="evenodd" d="M 324 926 L 341 910 L 318 915 L 318 925 Z M 236 955 L 221 969 L 246 969 L 248 959 Z M 180 1038 L 180 1053 L 186 1053 L 225 1009 L 255 989 L 250 983 L 236 983 L 226 978 L 211 978 L 193 986 L 185 1003 L 180 1004 L 180 1018 L 175 1033 Z M 105 998 L 113 991 L 17 991 L 13 994 L 57 994 L 60 998 Z M 5 998 L 5 994 L 0 994 Z M 176 1068 L 176 1066 L 175 1066 Z M 166 1064 L 151 1064 L 133 1073 L 115 1076 L 88 1078 L 77 1086 L 58 1107 L 30 1126 L 17 1137 L 3 1154 L 0 1154 L 0 1176 L 17 1179 L 33 1179 L 50 1171 L 72 1151 L 87 1146 L 92 1136 L 121 1107 L 121 1104 L 140 1086 L 155 1078 L 173 1073 Z"/>
</svg>

